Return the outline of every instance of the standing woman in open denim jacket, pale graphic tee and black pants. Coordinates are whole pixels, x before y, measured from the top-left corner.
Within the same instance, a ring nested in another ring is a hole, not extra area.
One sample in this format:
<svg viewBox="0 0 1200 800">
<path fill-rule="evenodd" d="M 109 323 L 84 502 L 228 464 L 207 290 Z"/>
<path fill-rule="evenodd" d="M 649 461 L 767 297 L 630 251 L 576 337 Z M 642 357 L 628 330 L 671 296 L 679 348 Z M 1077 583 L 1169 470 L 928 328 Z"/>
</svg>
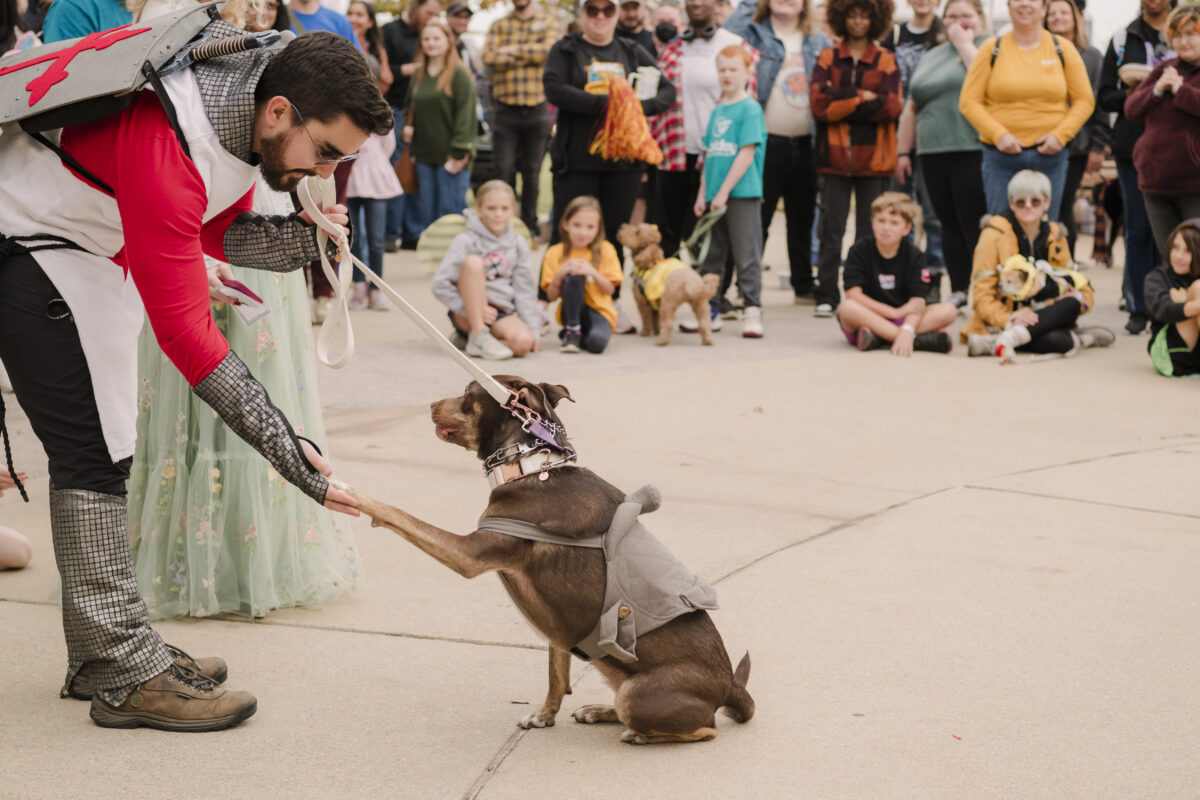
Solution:
<svg viewBox="0 0 1200 800">
<path fill-rule="evenodd" d="M 758 94 L 767 120 L 762 181 L 762 240 L 784 199 L 787 260 L 797 297 L 812 293 L 812 217 L 817 170 L 812 158 L 809 76 L 829 38 L 814 25 L 812 0 L 743 0 L 725 28 L 758 50 Z"/>
</svg>

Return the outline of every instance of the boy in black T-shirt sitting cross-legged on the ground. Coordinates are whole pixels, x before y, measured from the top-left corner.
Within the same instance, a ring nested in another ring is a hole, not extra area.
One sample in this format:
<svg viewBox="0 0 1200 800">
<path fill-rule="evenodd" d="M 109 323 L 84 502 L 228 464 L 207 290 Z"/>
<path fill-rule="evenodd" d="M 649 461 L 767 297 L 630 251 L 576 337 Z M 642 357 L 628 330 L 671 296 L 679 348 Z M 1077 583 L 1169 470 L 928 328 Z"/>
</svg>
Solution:
<svg viewBox="0 0 1200 800">
<path fill-rule="evenodd" d="M 925 254 L 908 239 L 918 209 L 907 194 L 878 196 L 871 203 L 871 233 L 846 257 L 846 299 L 838 306 L 838 321 L 859 350 L 890 345 L 893 355 L 950 351 L 946 326 L 958 309 L 948 302 L 925 305 L 931 277 Z"/>
</svg>

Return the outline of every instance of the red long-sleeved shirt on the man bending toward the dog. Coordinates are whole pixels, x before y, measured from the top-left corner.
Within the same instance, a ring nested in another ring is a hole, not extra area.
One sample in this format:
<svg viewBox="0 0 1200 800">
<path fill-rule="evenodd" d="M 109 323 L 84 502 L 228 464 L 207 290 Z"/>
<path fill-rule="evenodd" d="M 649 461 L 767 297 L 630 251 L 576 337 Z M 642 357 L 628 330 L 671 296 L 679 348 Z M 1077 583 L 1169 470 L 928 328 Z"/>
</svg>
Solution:
<svg viewBox="0 0 1200 800">
<path fill-rule="evenodd" d="M 204 254 L 224 260 L 226 230 L 251 210 L 253 188 L 203 222 L 204 181 L 150 91 L 120 114 L 64 130 L 61 146 L 112 187 L 125 235 L 113 261 L 137 285 L 162 351 L 194 386 L 229 353 L 209 306 Z"/>
</svg>

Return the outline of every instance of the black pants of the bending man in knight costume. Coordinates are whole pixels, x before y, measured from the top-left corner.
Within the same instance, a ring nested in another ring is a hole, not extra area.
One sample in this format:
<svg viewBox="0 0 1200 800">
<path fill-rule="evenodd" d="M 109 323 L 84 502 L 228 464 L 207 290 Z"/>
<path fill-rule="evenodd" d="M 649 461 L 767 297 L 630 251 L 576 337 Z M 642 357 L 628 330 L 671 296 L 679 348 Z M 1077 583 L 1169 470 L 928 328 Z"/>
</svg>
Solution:
<svg viewBox="0 0 1200 800">
<path fill-rule="evenodd" d="M 71 309 L 28 253 L 0 255 L 0 361 L 49 459 L 50 486 L 125 495 Z"/>
</svg>

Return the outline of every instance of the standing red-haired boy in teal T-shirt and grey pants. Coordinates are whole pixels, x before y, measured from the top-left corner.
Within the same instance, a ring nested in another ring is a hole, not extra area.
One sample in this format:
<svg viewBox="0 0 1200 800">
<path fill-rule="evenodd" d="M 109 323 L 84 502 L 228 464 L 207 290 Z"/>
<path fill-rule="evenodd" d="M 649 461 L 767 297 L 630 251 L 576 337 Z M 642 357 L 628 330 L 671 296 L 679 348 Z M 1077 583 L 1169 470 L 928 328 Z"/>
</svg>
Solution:
<svg viewBox="0 0 1200 800">
<path fill-rule="evenodd" d="M 708 118 L 704 167 L 696 197 L 697 217 L 725 209 L 713 225 L 708 257 L 701 275 L 721 275 L 730 251 L 742 295 L 742 336 L 762 338 L 762 166 L 767 150 L 767 124 L 762 106 L 746 94 L 750 54 L 731 44 L 716 54 L 721 102 Z M 720 297 L 710 301 L 710 318 L 720 329 Z"/>
</svg>

